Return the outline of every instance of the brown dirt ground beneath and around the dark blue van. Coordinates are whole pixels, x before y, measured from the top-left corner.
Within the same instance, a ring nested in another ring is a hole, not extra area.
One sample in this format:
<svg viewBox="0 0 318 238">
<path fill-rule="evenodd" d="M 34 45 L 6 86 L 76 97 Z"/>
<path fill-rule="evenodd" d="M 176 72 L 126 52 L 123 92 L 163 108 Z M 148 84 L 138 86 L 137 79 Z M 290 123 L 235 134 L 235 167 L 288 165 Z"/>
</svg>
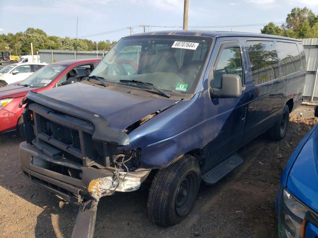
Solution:
<svg viewBox="0 0 318 238">
<path fill-rule="evenodd" d="M 313 112 L 304 106 L 293 112 L 285 139 L 272 142 L 262 135 L 240 149 L 244 163 L 218 184 L 202 184 L 192 213 L 181 224 L 163 229 L 151 223 L 147 190 L 142 189 L 101 199 L 95 237 L 277 237 L 275 196 L 280 175 L 311 129 Z M 71 237 L 76 209 L 21 173 L 20 142 L 0 136 L 0 237 Z"/>
</svg>

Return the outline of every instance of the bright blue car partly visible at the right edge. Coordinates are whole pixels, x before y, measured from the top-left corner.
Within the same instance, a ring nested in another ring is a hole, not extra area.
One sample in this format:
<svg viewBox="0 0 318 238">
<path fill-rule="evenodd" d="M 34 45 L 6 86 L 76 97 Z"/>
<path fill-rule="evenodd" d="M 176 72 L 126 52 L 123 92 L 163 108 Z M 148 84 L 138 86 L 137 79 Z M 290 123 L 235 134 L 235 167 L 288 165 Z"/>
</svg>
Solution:
<svg viewBox="0 0 318 238">
<path fill-rule="evenodd" d="M 276 202 L 280 238 L 318 237 L 317 149 L 315 125 L 296 147 L 281 178 Z"/>
</svg>

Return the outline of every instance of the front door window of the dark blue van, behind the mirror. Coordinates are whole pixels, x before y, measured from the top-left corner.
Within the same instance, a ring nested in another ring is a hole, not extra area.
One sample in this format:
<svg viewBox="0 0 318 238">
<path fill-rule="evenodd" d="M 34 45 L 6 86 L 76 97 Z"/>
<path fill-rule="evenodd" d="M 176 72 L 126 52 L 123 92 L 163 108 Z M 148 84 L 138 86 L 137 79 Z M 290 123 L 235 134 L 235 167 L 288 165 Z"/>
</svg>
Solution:
<svg viewBox="0 0 318 238">
<path fill-rule="evenodd" d="M 239 47 L 222 50 L 219 60 L 214 66 L 213 80 L 211 80 L 212 87 L 221 87 L 223 74 L 237 74 L 240 76 L 243 84 L 242 59 Z"/>
</svg>

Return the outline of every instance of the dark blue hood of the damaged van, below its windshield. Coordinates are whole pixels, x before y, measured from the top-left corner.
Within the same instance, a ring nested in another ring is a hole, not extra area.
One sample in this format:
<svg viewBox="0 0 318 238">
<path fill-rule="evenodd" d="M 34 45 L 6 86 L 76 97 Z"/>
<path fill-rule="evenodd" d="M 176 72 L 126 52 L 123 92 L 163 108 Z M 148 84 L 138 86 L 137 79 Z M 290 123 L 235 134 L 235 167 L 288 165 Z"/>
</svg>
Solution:
<svg viewBox="0 0 318 238">
<path fill-rule="evenodd" d="M 107 120 L 109 127 L 120 131 L 176 102 L 170 99 L 134 95 L 128 91 L 120 92 L 107 87 L 98 88 L 83 83 L 73 83 L 41 94 L 70 105 L 70 114 L 72 106 L 98 114 Z"/>
</svg>

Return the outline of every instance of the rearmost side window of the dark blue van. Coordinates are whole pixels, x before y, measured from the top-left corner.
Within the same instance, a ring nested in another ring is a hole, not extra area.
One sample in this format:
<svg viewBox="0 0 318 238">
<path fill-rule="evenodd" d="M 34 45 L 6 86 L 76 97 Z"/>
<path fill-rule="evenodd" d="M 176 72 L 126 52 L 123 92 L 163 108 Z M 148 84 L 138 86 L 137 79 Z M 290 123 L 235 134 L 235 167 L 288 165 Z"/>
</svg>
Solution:
<svg viewBox="0 0 318 238">
<path fill-rule="evenodd" d="M 277 42 L 282 77 L 300 70 L 300 56 L 295 43 Z"/>
</svg>

